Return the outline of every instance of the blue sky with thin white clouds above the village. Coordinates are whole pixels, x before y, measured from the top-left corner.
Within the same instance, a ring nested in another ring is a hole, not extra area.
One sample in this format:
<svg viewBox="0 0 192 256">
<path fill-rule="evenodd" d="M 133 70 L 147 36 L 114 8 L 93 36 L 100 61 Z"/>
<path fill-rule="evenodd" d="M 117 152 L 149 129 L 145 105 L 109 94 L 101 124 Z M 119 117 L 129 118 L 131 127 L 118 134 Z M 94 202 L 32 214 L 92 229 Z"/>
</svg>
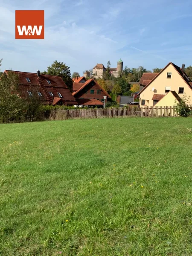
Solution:
<svg viewBox="0 0 192 256">
<path fill-rule="evenodd" d="M 97 63 L 192 65 L 191 0 L 0 0 L 1 71 L 62 61 L 83 75 Z M 45 39 L 15 39 L 15 10 L 44 10 Z"/>
</svg>

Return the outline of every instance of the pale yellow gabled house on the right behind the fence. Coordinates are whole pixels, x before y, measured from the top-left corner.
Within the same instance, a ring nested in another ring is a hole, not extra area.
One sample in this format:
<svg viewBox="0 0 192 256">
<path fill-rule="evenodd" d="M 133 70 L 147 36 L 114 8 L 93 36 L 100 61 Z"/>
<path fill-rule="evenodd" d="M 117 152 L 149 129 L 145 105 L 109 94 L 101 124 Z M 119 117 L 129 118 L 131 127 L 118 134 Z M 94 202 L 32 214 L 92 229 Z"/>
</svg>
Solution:
<svg viewBox="0 0 192 256">
<path fill-rule="evenodd" d="M 192 81 L 182 68 L 170 62 L 140 91 L 140 106 L 173 106 L 184 93 L 191 96 Z"/>
</svg>

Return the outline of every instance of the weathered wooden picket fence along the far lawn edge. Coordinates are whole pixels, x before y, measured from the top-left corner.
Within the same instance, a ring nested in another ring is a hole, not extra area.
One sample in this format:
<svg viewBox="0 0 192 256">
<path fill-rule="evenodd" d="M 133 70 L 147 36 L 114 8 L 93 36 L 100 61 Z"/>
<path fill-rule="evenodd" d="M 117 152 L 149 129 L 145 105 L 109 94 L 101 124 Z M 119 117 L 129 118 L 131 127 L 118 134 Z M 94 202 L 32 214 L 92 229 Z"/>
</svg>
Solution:
<svg viewBox="0 0 192 256">
<path fill-rule="evenodd" d="M 115 118 L 128 116 L 143 117 L 173 117 L 178 116 L 173 106 L 166 107 L 129 107 L 129 108 L 89 108 L 89 109 L 67 109 L 67 119 L 84 118 Z"/>
</svg>

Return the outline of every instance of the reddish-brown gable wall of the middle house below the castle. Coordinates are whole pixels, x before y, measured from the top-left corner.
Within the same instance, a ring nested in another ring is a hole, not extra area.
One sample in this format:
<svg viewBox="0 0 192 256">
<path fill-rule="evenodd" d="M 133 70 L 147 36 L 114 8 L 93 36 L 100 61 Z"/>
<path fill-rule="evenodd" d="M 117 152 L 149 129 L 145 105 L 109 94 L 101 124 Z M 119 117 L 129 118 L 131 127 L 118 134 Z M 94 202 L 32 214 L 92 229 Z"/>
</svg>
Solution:
<svg viewBox="0 0 192 256">
<path fill-rule="evenodd" d="M 94 90 L 94 94 L 91 94 L 90 90 Z M 92 81 L 92 82 L 90 82 L 90 84 L 85 86 L 85 88 L 83 88 L 79 93 L 77 93 L 74 96 L 77 99 L 80 99 L 80 98 L 82 98 L 82 99 L 99 99 L 99 101 L 101 101 L 102 99 L 104 99 L 103 96 L 107 96 L 107 95 L 102 90 L 101 90 L 101 94 L 97 94 L 97 90 L 100 90 L 100 87 L 98 85 L 96 85 L 94 81 Z M 86 91 L 87 91 L 87 93 L 86 93 Z M 108 101 L 108 97 L 105 102 L 107 102 L 107 101 Z"/>
</svg>

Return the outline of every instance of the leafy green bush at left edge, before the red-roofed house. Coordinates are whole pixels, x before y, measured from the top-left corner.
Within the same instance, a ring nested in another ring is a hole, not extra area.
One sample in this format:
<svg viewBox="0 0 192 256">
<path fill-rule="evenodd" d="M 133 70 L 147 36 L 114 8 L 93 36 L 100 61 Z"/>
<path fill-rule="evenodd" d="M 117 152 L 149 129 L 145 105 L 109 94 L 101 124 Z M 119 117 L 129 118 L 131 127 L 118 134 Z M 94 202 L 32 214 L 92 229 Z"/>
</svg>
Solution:
<svg viewBox="0 0 192 256">
<path fill-rule="evenodd" d="M 18 84 L 18 76 L 11 71 L 0 79 L 0 119 L 3 122 L 24 119 L 26 102 L 19 96 Z"/>
</svg>

